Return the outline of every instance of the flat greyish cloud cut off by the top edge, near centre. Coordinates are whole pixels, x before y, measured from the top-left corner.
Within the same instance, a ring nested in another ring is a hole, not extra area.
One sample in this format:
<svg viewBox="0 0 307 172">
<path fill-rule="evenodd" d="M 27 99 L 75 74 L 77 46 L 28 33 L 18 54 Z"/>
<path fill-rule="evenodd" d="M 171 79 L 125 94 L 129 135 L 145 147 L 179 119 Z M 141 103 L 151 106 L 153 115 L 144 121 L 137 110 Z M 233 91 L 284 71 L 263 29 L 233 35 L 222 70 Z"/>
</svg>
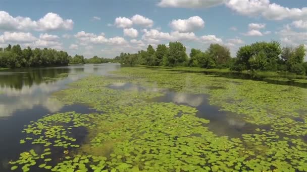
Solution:
<svg viewBox="0 0 307 172">
<path fill-rule="evenodd" d="M 209 8 L 223 4 L 225 0 L 161 0 L 160 7 Z"/>
</svg>

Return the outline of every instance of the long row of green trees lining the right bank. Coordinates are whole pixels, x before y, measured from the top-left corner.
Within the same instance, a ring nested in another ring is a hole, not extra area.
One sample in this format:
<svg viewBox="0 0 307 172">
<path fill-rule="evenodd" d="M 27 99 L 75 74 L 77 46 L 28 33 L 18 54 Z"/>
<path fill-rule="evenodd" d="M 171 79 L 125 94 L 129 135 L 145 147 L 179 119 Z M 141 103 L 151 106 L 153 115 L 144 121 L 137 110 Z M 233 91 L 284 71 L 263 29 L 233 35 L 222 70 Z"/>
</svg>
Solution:
<svg viewBox="0 0 307 172">
<path fill-rule="evenodd" d="M 277 41 L 263 41 L 240 47 L 234 58 L 231 57 L 229 48 L 220 44 L 211 44 L 204 52 L 192 48 L 188 57 L 185 46 L 176 41 L 170 42 L 169 46 L 160 44 L 156 49 L 148 45 L 146 50 L 134 54 L 121 53 L 114 60 L 131 66 L 190 66 L 229 68 L 233 71 L 290 71 L 306 74 L 307 62 L 303 62 L 305 55 L 304 45 L 282 48 Z"/>
</svg>

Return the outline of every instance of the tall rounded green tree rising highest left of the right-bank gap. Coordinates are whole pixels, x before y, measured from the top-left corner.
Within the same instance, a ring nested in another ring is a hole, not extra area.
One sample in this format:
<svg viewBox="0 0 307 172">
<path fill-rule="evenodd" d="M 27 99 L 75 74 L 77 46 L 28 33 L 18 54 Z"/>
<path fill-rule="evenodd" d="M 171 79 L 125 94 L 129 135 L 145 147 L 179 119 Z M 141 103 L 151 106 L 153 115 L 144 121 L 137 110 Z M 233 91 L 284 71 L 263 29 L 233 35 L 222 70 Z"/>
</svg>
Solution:
<svg viewBox="0 0 307 172">
<path fill-rule="evenodd" d="M 170 42 L 168 55 L 164 59 L 166 66 L 182 65 L 187 61 L 185 46 L 180 42 Z"/>
</svg>

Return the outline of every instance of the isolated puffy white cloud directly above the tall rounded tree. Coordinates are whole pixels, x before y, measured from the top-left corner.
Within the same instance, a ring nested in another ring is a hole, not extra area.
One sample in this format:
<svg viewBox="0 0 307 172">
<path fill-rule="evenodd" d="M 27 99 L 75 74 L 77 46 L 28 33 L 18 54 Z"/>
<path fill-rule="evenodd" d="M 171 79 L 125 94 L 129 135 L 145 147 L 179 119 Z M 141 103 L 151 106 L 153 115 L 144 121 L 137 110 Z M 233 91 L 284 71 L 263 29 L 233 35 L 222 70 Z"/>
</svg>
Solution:
<svg viewBox="0 0 307 172">
<path fill-rule="evenodd" d="M 170 26 L 173 30 L 179 31 L 179 32 L 192 32 L 198 29 L 201 29 L 204 27 L 204 21 L 198 17 L 190 17 L 186 20 L 173 20 L 170 23 Z"/>
</svg>

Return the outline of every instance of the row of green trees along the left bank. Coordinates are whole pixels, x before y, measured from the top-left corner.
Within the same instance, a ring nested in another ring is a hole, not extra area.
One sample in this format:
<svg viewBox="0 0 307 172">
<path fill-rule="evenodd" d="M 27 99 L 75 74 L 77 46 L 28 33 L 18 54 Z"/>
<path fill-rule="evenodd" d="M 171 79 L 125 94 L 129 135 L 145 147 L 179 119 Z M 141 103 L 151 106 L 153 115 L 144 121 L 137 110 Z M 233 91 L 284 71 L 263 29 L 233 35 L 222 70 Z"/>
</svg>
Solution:
<svg viewBox="0 0 307 172">
<path fill-rule="evenodd" d="M 48 66 L 66 66 L 68 64 L 85 63 L 107 63 L 113 59 L 99 58 L 94 56 L 86 59 L 82 55 L 71 57 L 65 51 L 55 49 L 31 49 L 30 47 L 22 49 L 20 45 L 8 45 L 6 48 L 0 48 L 0 67 L 20 68 L 20 67 L 48 67 Z"/>
</svg>

